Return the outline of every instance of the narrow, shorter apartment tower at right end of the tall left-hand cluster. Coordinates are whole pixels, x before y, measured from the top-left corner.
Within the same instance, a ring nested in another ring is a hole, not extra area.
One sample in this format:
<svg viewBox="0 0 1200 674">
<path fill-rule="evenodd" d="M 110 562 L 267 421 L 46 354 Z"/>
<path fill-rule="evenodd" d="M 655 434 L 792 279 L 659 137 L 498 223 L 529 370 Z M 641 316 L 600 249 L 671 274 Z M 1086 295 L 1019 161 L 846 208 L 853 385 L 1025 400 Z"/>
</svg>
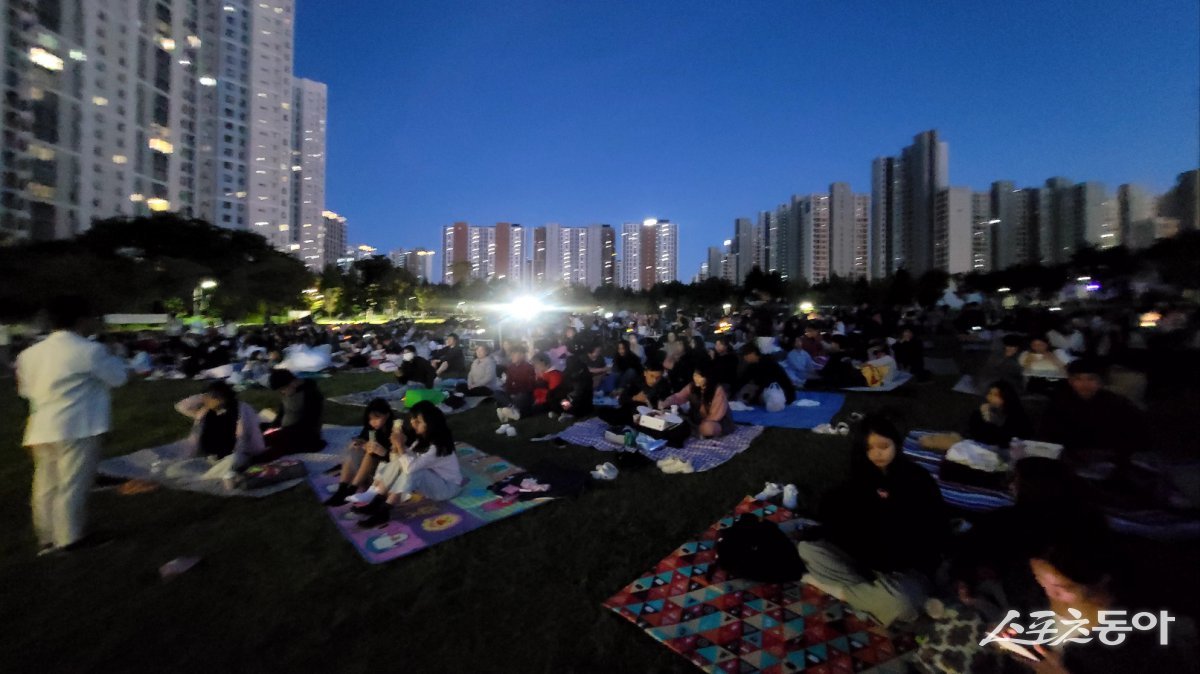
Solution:
<svg viewBox="0 0 1200 674">
<path fill-rule="evenodd" d="M 292 95 L 292 222 L 293 243 L 300 243 L 300 259 L 320 271 L 332 251 L 324 247 L 325 211 L 325 115 L 328 92 L 324 84 L 295 78 Z"/>
</svg>

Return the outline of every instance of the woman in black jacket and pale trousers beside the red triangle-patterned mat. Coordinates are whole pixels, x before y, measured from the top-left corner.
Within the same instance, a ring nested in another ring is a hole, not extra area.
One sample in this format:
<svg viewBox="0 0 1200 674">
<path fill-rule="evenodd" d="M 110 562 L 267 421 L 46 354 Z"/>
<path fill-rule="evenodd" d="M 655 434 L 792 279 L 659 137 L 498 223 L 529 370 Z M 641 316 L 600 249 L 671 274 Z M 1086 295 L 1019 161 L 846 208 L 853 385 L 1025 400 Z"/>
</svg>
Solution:
<svg viewBox="0 0 1200 674">
<path fill-rule="evenodd" d="M 949 532 L 937 483 L 902 445 L 892 422 L 863 419 L 851 476 L 821 504 L 824 540 L 797 543 L 815 585 L 884 626 L 917 618 Z"/>
</svg>

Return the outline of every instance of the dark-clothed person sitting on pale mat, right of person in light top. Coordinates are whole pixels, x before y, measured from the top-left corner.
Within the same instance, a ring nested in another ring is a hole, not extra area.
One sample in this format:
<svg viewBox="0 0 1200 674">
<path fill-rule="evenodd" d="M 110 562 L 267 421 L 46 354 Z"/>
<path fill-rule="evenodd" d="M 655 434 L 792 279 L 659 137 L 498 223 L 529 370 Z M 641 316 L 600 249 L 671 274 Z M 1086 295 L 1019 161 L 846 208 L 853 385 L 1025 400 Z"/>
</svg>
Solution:
<svg viewBox="0 0 1200 674">
<path fill-rule="evenodd" d="M 263 433 L 266 451 L 259 457 L 262 463 L 286 455 L 319 452 L 325 449 L 320 427 L 325 409 L 325 396 L 312 379 L 300 379 L 288 369 L 272 369 L 268 379 L 272 391 L 280 393 L 282 410 Z"/>
</svg>

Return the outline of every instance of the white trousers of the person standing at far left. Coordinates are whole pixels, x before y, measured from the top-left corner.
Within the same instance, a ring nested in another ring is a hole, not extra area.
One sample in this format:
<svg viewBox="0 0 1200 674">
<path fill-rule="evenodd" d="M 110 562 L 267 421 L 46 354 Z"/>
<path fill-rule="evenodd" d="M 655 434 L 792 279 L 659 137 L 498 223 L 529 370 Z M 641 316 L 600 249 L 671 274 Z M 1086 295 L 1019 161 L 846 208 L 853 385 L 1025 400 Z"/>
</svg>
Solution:
<svg viewBox="0 0 1200 674">
<path fill-rule="evenodd" d="M 34 532 L 42 546 L 58 547 L 83 538 L 88 494 L 100 462 L 100 435 L 32 445 Z"/>
</svg>

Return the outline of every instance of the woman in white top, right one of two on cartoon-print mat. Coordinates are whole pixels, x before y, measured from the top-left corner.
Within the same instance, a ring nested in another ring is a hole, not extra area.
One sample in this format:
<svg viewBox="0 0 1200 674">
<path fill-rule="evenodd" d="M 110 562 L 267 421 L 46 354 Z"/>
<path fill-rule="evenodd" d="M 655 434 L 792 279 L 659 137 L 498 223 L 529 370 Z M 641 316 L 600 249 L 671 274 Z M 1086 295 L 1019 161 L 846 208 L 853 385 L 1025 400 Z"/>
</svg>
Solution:
<svg viewBox="0 0 1200 674">
<path fill-rule="evenodd" d="M 414 499 L 445 501 L 462 492 L 462 467 L 455 451 L 454 434 L 446 417 L 437 405 L 421 401 L 409 415 L 410 431 L 395 427 L 391 434 L 391 455 L 388 463 L 376 471 L 371 488 L 359 500 L 371 497 L 355 510 L 366 514 L 359 526 L 383 526 L 391 518 L 391 508 Z"/>
</svg>

